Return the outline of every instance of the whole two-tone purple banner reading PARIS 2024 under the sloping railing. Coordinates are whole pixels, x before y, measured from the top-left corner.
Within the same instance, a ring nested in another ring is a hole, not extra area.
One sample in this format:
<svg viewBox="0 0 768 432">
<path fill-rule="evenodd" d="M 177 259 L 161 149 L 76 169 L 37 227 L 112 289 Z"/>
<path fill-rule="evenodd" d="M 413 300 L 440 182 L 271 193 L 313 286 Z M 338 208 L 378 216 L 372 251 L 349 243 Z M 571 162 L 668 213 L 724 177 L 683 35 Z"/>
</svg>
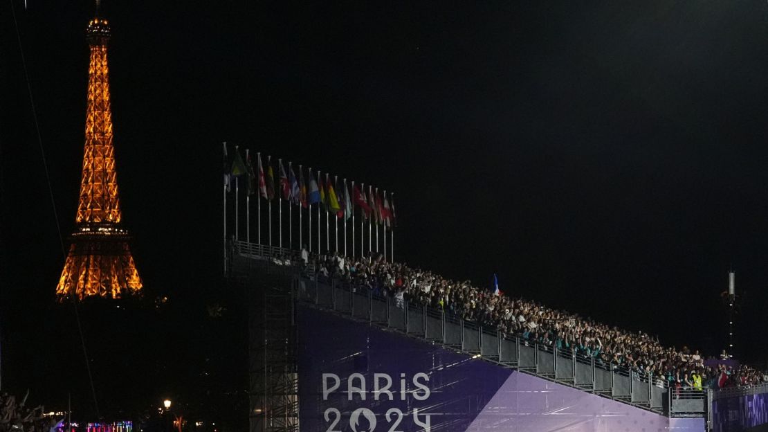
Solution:
<svg viewBox="0 0 768 432">
<path fill-rule="evenodd" d="M 704 430 L 310 307 L 296 319 L 304 431 Z"/>
</svg>

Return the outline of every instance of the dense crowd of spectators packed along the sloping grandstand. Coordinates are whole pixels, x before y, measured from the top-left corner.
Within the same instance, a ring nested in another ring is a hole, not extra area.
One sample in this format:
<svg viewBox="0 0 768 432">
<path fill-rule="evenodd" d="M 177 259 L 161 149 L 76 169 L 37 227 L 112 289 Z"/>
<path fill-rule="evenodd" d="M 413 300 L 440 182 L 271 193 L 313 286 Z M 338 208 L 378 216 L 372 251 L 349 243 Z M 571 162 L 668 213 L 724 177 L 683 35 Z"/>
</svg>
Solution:
<svg viewBox="0 0 768 432">
<path fill-rule="evenodd" d="M 470 281 L 452 281 L 432 271 L 386 261 L 381 255 L 347 258 L 337 253 L 310 255 L 303 249 L 299 260 L 297 264 L 304 268 L 313 264 L 320 281 L 335 279 L 353 289 L 369 289 L 392 297 L 399 307 L 406 302 L 435 307 L 501 334 L 521 337 L 527 344 L 594 357 L 601 367 L 631 371 L 656 385 L 701 390 L 768 383 L 766 372 L 725 361 L 730 357 L 725 351 L 720 362 L 688 347 L 665 347 L 642 331 L 625 331 L 537 301 L 499 295 Z M 290 260 L 276 262 L 289 264 Z"/>
</svg>

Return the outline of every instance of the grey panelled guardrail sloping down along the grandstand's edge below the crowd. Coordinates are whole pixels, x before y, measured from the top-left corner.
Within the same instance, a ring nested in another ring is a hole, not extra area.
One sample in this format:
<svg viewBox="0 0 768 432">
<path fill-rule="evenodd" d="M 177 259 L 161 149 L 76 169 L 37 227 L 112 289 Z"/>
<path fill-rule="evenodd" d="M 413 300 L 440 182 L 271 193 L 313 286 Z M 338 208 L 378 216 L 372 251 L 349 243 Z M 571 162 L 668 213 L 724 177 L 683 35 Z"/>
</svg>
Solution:
<svg viewBox="0 0 768 432">
<path fill-rule="evenodd" d="M 320 281 L 313 264 L 303 267 L 296 251 L 236 241 L 233 252 L 268 266 L 280 266 L 281 270 L 293 269 L 297 276 L 296 298 L 317 307 L 670 417 L 706 417 L 709 411 L 711 397 L 707 397 L 707 390 L 670 389 L 650 374 L 641 375 L 575 351 L 502 334 L 434 307 L 409 301 L 398 304 L 391 296 L 333 278 Z M 685 397 L 680 397 L 680 391 Z"/>
</svg>

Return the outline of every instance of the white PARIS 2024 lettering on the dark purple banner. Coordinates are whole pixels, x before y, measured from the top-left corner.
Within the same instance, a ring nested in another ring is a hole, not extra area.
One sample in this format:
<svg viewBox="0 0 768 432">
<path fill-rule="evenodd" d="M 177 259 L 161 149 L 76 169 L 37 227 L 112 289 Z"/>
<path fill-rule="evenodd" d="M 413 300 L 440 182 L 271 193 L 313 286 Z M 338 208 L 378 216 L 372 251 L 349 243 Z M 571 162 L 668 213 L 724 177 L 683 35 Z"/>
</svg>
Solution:
<svg viewBox="0 0 768 432">
<path fill-rule="evenodd" d="M 409 381 L 412 384 L 409 390 Z M 350 374 L 346 379 L 346 388 L 342 388 L 342 380 L 337 374 L 323 374 L 323 400 L 328 400 L 330 396 L 345 397 L 346 400 L 406 400 L 412 397 L 415 400 L 427 400 L 429 398 L 429 375 L 424 373 L 415 374 L 406 377 L 406 374 L 400 374 L 399 385 L 389 374 L 373 374 L 372 382 L 366 382 L 366 377 L 362 374 Z M 394 387 L 393 387 L 394 386 Z M 323 413 L 326 419 L 328 429 L 326 432 L 341 432 L 343 429 L 342 414 L 337 408 L 328 408 Z M 376 418 L 376 413 L 369 408 L 359 407 L 349 414 L 349 428 L 353 432 L 374 432 L 377 423 L 382 432 L 401 432 L 399 426 L 403 420 L 412 417 L 413 423 L 422 427 L 425 432 L 429 432 L 430 416 L 429 414 L 419 414 L 419 408 L 413 408 L 412 414 L 406 416 L 397 407 L 389 408 L 383 415 L 383 418 Z M 386 422 L 386 425 L 381 424 Z M 365 424 L 368 424 L 367 426 Z"/>
</svg>

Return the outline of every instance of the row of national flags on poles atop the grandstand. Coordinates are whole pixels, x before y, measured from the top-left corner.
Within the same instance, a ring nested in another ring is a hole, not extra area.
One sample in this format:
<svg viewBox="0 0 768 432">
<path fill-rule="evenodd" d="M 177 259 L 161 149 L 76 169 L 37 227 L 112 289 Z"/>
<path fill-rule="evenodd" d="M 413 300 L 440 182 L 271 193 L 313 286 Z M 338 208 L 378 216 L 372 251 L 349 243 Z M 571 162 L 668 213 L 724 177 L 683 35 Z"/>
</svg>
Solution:
<svg viewBox="0 0 768 432">
<path fill-rule="evenodd" d="M 240 156 L 240 151 L 235 147 L 234 157 L 230 162 L 227 158 L 227 145 L 224 145 L 224 184 L 227 191 L 230 188 L 232 178 L 246 178 L 247 194 L 259 194 L 268 201 L 283 199 L 291 204 L 309 208 L 312 204 L 319 205 L 325 211 L 336 214 L 336 218 L 352 218 L 354 207 L 360 209 L 363 218 L 370 218 L 373 223 L 392 227 L 397 225 L 395 214 L 395 201 L 392 194 L 386 191 L 379 193 L 378 188 L 359 187 L 352 182 L 351 194 L 347 188 L 346 180 L 339 182 L 336 176 L 320 171 L 313 174 L 310 168 L 307 173 L 309 181 L 305 181 L 304 172 L 299 165 L 299 175 L 293 171 L 293 165 L 288 162 L 286 171 L 283 162 L 278 159 L 276 167 L 273 167 L 272 158 L 267 156 L 266 166 L 257 154 L 256 163 L 250 157 L 250 151 L 246 151 L 246 160 Z M 275 174 L 277 173 L 277 174 Z M 276 183 L 276 180 L 279 183 Z"/>
</svg>

